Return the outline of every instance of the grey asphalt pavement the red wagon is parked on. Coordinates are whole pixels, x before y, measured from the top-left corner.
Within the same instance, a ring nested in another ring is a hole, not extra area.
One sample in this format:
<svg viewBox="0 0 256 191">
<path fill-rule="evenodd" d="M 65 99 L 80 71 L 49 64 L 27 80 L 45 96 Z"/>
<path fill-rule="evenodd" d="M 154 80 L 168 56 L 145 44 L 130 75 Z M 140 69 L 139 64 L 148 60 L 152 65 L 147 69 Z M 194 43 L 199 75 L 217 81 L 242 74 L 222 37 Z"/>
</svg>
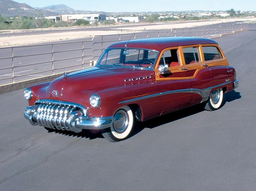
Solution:
<svg viewBox="0 0 256 191">
<path fill-rule="evenodd" d="M 31 126 L 22 90 L 0 94 L 0 190 L 256 190 L 256 24 L 249 27 L 216 39 L 240 80 L 221 109 L 155 118 L 118 143 Z"/>
</svg>

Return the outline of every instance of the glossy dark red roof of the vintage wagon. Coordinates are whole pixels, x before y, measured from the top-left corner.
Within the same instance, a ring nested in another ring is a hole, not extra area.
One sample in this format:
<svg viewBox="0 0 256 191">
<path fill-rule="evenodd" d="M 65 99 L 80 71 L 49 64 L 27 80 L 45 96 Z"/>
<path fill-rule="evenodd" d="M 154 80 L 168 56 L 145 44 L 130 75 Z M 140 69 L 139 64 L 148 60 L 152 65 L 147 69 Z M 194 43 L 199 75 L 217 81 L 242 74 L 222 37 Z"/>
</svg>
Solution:
<svg viewBox="0 0 256 191">
<path fill-rule="evenodd" d="M 162 51 L 169 47 L 193 44 L 217 44 L 217 42 L 209 38 L 198 37 L 159 37 L 121 41 L 113 43 L 107 48 L 142 48 Z"/>
</svg>

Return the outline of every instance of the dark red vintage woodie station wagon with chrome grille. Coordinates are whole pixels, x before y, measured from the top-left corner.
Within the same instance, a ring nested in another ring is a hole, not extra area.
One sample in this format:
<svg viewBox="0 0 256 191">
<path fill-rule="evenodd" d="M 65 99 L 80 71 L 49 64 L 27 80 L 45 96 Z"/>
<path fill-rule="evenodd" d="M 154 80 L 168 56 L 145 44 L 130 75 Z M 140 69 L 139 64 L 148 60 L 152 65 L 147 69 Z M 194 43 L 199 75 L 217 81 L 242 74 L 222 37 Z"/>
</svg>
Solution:
<svg viewBox="0 0 256 191">
<path fill-rule="evenodd" d="M 91 68 L 26 88 L 24 116 L 46 129 L 99 129 L 115 142 L 128 138 L 136 121 L 199 103 L 217 110 L 237 87 L 235 69 L 214 40 L 127 40 L 108 46 Z"/>
</svg>

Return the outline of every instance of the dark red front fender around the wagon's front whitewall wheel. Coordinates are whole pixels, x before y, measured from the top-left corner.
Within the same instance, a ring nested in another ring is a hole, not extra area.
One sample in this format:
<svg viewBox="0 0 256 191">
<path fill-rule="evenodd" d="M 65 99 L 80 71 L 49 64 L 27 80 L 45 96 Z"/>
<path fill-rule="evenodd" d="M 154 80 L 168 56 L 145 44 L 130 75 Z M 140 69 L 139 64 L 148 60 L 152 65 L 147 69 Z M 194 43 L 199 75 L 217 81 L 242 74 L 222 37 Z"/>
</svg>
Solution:
<svg viewBox="0 0 256 191">
<path fill-rule="evenodd" d="M 147 95 L 159 93 L 156 83 L 115 87 L 95 93 L 100 96 L 101 105 L 100 107 L 94 108 L 90 106 L 88 108 L 88 115 L 91 117 L 114 116 L 114 113 L 118 108 L 131 104 L 137 104 L 141 108 L 142 116 L 146 117 L 147 119 L 150 118 L 148 115 L 155 115 L 154 112 L 159 110 L 158 107 L 160 104 L 157 104 L 157 101 L 160 101 L 160 99 L 157 97 L 122 103 L 127 100 L 133 100 L 135 98 L 146 97 Z"/>
</svg>

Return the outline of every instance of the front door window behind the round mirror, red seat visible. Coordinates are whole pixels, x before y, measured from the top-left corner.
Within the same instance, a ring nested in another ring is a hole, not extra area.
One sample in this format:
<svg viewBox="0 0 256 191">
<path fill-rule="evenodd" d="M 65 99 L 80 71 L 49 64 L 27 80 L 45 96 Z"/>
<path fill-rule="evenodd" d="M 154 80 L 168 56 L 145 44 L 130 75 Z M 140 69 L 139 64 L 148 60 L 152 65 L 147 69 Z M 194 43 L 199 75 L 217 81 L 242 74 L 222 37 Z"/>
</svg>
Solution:
<svg viewBox="0 0 256 191">
<path fill-rule="evenodd" d="M 169 67 L 179 66 L 178 49 L 164 51 L 159 64 L 167 64 Z"/>
</svg>

